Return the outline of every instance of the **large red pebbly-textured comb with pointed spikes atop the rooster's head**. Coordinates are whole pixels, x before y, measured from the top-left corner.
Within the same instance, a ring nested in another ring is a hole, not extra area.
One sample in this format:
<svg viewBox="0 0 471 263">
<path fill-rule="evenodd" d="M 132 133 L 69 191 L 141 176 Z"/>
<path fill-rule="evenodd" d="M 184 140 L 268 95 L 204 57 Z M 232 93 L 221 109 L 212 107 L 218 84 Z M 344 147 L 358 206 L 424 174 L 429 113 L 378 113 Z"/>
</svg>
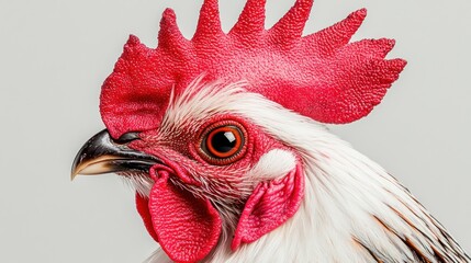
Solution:
<svg viewBox="0 0 471 263">
<path fill-rule="evenodd" d="M 158 127 L 170 91 L 197 77 L 248 82 L 287 108 L 323 123 L 350 123 L 379 104 L 406 62 L 384 59 L 392 39 L 349 43 L 367 15 L 351 13 L 315 34 L 302 36 L 313 0 L 298 0 L 265 30 L 265 0 L 248 0 L 237 23 L 221 30 L 217 0 L 205 0 L 197 32 L 186 39 L 172 10 L 164 12 L 158 47 L 131 36 L 101 93 L 101 114 L 112 136 Z"/>
</svg>

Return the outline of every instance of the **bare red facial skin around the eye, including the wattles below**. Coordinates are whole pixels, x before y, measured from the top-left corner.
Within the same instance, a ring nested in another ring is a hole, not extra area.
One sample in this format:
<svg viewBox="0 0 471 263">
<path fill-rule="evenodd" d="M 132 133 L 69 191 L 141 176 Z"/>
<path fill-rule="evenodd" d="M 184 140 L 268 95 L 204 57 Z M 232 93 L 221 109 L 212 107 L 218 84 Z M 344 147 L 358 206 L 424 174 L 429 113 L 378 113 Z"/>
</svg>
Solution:
<svg viewBox="0 0 471 263">
<path fill-rule="evenodd" d="M 239 125 L 245 145 L 242 157 L 221 165 L 208 161 L 200 149 L 201 136 L 220 125 Z M 182 126 L 184 128 L 184 125 Z M 214 116 L 204 121 L 198 133 L 161 136 L 160 130 L 141 134 L 130 147 L 159 158 L 149 176 L 155 181 L 149 199 L 136 195 L 137 209 L 150 236 L 176 262 L 197 262 L 216 245 L 224 215 L 239 218 L 233 249 L 257 240 L 298 210 L 303 192 L 302 164 L 281 179 L 247 182 L 245 174 L 273 149 L 290 150 L 259 127 L 237 116 Z M 166 134 L 166 133 L 164 133 Z M 280 194 L 281 192 L 283 194 Z M 222 209 L 218 204 L 233 207 Z"/>
</svg>

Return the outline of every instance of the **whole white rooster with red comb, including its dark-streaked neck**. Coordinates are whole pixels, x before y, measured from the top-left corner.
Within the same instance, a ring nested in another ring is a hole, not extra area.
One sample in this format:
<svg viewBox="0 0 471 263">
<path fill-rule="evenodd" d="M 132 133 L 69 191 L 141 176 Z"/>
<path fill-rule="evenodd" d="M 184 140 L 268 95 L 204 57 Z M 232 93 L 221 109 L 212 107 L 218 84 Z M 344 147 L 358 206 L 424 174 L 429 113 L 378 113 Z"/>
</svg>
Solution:
<svg viewBox="0 0 471 263">
<path fill-rule="evenodd" d="M 114 172 L 160 244 L 148 262 L 469 262 L 380 165 L 328 133 L 368 115 L 406 62 L 349 43 L 367 12 L 302 36 L 313 0 L 270 30 L 248 0 L 226 34 L 205 0 L 194 36 L 164 12 L 157 48 L 131 36 L 104 81 L 106 129 L 76 174 Z"/>
</svg>

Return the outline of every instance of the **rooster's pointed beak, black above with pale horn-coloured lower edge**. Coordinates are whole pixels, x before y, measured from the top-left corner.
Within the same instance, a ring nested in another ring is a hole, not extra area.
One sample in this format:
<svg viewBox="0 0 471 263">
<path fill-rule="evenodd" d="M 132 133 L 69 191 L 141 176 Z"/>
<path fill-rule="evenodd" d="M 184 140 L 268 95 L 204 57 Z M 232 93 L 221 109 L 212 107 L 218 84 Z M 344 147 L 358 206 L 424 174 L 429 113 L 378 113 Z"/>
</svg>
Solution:
<svg viewBox="0 0 471 263">
<path fill-rule="evenodd" d="M 125 134 L 120 139 L 111 138 L 106 129 L 91 137 L 77 153 L 70 179 L 77 174 L 97 175 L 115 172 L 148 172 L 152 165 L 160 161 L 149 155 L 127 147 L 138 139 L 137 133 Z"/>
</svg>

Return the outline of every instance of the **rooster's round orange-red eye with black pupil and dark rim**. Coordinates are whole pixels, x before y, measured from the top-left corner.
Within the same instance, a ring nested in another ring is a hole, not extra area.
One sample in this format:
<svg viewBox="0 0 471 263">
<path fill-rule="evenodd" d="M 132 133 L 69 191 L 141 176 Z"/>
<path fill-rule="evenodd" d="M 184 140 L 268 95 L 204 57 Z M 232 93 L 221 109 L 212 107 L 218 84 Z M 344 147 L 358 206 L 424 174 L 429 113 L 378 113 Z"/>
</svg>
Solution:
<svg viewBox="0 0 471 263">
<path fill-rule="evenodd" d="M 214 164 L 228 164 L 242 157 L 245 130 L 238 124 L 213 125 L 201 140 L 202 157 Z"/>
</svg>

